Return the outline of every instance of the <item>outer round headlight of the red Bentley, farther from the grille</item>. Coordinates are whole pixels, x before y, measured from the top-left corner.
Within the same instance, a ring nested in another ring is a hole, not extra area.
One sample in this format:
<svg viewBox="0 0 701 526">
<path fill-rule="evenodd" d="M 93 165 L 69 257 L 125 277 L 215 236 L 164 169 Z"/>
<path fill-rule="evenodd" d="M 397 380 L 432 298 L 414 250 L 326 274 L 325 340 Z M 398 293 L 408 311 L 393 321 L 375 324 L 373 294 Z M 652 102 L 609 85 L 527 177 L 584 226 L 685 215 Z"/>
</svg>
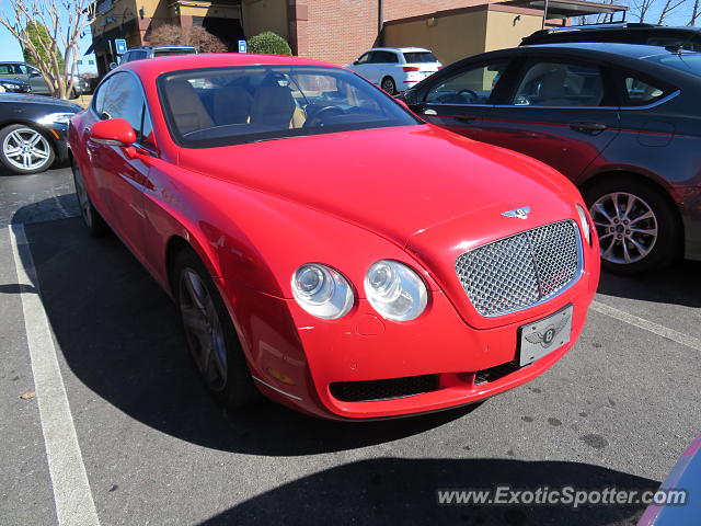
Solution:
<svg viewBox="0 0 701 526">
<path fill-rule="evenodd" d="M 345 277 L 319 263 L 309 263 L 295 271 L 292 296 L 307 312 L 326 320 L 347 315 L 354 300 Z"/>
</svg>

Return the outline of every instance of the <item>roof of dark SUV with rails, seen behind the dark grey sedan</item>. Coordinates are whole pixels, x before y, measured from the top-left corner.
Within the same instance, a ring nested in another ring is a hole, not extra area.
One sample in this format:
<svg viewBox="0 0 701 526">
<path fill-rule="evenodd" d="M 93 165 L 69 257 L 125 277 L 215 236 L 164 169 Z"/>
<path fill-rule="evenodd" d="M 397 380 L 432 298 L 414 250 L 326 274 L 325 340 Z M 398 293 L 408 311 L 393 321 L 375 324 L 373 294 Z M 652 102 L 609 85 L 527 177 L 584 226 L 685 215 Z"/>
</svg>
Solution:
<svg viewBox="0 0 701 526">
<path fill-rule="evenodd" d="M 566 42 L 617 42 L 620 44 L 645 44 L 648 46 L 701 52 L 701 30 L 642 23 L 553 27 L 537 31 L 527 36 L 521 41 L 521 46 Z"/>
</svg>

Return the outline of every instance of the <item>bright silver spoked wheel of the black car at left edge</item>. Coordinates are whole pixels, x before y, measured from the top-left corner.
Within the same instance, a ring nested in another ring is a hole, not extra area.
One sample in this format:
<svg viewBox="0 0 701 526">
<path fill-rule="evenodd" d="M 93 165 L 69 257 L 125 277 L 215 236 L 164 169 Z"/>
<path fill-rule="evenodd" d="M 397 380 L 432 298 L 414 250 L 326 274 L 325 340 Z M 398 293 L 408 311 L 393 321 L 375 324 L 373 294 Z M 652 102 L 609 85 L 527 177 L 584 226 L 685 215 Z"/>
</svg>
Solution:
<svg viewBox="0 0 701 526">
<path fill-rule="evenodd" d="M 54 148 L 41 132 L 23 124 L 11 124 L 0 130 L 0 161 L 14 173 L 43 172 L 54 159 Z"/>
</svg>

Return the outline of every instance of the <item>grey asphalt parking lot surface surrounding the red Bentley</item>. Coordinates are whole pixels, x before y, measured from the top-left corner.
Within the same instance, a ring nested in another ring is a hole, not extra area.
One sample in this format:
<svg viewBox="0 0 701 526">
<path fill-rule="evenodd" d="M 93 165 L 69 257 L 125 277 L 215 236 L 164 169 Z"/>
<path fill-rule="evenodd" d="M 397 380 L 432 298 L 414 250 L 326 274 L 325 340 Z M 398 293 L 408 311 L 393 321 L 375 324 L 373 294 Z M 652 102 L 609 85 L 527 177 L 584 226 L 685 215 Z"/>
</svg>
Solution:
<svg viewBox="0 0 701 526">
<path fill-rule="evenodd" d="M 103 525 L 635 524 L 630 506 L 439 506 L 439 489 L 656 489 L 701 433 L 701 263 L 641 279 L 604 275 L 574 350 L 485 403 L 375 423 L 313 420 L 264 402 L 215 405 L 175 308 L 114 237 L 91 239 L 67 169 L 0 174 L 0 524 L 57 524 L 35 325 L 41 294 Z M 33 264 L 5 227 L 22 224 Z M 18 268 L 31 266 L 32 283 Z M 27 333 L 27 330 L 30 333 Z M 34 365 L 34 370 L 33 370 Z M 51 393 L 44 393 L 45 397 Z M 70 473 L 69 473 L 70 474 Z M 64 515 L 81 523 L 80 515 Z"/>
</svg>

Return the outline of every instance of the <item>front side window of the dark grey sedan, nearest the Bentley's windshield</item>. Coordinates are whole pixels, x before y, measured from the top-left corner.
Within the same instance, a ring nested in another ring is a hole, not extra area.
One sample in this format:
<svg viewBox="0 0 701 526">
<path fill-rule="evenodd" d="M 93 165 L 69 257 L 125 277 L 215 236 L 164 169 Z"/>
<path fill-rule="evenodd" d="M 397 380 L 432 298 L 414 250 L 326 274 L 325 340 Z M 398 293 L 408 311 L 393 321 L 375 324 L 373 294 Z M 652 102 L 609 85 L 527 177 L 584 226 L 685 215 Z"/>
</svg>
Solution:
<svg viewBox="0 0 701 526">
<path fill-rule="evenodd" d="M 487 104 L 507 60 L 463 70 L 434 85 L 426 94 L 430 104 Z"/>
</svg>

